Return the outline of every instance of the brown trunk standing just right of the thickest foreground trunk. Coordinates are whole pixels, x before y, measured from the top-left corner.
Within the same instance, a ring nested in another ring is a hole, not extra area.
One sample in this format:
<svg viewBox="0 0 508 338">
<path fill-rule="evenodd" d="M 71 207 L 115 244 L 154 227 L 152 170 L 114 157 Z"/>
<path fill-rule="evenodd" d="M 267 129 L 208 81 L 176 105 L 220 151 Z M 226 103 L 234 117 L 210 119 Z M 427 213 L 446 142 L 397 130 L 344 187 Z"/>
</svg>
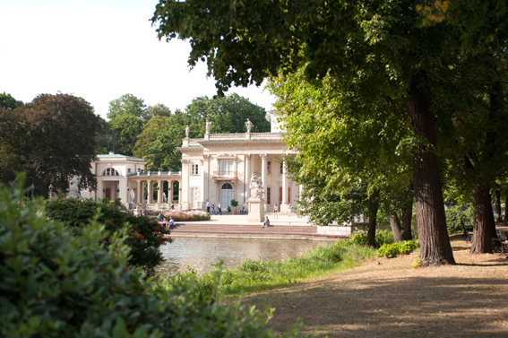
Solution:
<svg viewBox="0 0 508 338">
<path fill-rule="evenodd" d="M 492 254 L 492 205 L 490 186 L 477 186 L 473 190 L 473 239 L 470 254 Z"/>
</svg>

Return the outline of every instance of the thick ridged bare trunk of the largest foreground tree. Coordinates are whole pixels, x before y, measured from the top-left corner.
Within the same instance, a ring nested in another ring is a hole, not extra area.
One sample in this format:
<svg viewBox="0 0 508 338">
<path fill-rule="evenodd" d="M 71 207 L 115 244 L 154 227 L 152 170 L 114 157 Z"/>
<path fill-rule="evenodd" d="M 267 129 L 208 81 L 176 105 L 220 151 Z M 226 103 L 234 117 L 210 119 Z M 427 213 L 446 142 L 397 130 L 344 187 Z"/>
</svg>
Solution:
<svg viewBox="0 0 508 338">
<path fill-rule="evenodd" d="M 429 83 L 424 72 L 413 74 L 405 102 L 413 130 L 430 146 L 414 149 L 414 187 L 422 265 L 455 264 L 446 230 L 443 189 L 436 153 L 434 115 L 430 111 Z"/>
</svg>

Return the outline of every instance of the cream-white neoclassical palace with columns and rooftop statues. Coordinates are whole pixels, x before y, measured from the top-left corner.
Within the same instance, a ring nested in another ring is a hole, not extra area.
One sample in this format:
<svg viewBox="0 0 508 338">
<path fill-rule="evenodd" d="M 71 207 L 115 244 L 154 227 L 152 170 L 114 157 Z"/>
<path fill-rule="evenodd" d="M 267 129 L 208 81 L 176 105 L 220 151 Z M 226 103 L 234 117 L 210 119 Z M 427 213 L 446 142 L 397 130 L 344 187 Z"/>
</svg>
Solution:
<svg viewBox="0 0 508 338">
<path fill-rule="evenodd" d="M 275 114 L 270 133 L 204 134 L 203 138 L 183 139 L 181 171 L 145 171 L 146 162 L 140 158 L 108 154 L 98 155 L 92 170 L 98 179 L 96 191 L 82 191 L 86 197 L 121 198 L 123 204 L 143 204 L 150 209 L 167 209 L 173 196 L 180 210 L 206 209 L 207 201 L 221 203 L 223 210 L 237 200 L 239 207 L 248 209 L 250 178 L 262 178 L 265 211 L 274 204 L 287 212 L 288 204 L 297 204 L 301 186 L 288 179 L 282 154 L 282 130 Z M 168 185 L 163 185 L 167 181 Z M 167 186 L 164 188 L 164 186 Z M 168 190 L 168 187 L 170 190 Z M 157 190 L 157 198 L 151 198 Z M 90 195 L 89 195 L 90 194 Z"/>
</svg>

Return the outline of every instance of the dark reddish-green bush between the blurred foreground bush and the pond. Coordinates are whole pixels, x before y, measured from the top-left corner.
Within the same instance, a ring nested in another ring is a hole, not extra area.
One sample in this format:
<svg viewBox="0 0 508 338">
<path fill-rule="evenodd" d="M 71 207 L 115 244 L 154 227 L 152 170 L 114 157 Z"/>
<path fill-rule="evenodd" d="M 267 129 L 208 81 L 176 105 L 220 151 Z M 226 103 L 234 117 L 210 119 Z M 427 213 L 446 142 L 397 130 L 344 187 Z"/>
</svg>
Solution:
<svg viewBox="0 0 508 338">
<path fill-rule="evenodd" d="M 99 203 L 92 200 L 57 199 L 48 202 L 47 217 L 55 221 L 62 221 L 75 235 L 82 235 L 82 226 L 87 224 L 100 210 L 97 221 L 104 224 L 109 233 L 124 228 L 125 223 L 131 227 L 127 231 L 125 244 L 131 247 L 128 264 L 139 266 L 143 272 L 152 275 L 155 268 L 162 262 L 160 246 L 169 239 L 164 235 L 169 231 L 159 225 L 159 222 L 149 217 L 134 217 L 122 210 L 116 202 L 103 200 Z M 105 238 L 108 243 L 108 238 Z"/>
</svg>

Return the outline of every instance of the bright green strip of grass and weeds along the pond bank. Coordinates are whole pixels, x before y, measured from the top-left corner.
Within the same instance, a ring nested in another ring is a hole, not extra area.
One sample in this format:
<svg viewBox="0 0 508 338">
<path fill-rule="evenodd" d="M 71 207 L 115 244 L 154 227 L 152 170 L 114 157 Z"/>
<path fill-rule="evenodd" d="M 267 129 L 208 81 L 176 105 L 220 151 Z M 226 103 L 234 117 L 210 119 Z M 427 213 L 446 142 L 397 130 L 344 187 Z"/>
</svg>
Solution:
<svg viewBox="0 0 508 338">
<path fill-rule="evenodd" d="M 196 275 L 195 278 L 203 288 L 209 288 L 208 285 L 217 288 L 220 297 L 235 296 L 346 270 L 374 255 L 375 250 L 370 247 L 337 241 L 286 261 L 262 262 L 247 259 L 233 270 L 222 269 L 219 264 L 215 271 Z"/>
</svg>

